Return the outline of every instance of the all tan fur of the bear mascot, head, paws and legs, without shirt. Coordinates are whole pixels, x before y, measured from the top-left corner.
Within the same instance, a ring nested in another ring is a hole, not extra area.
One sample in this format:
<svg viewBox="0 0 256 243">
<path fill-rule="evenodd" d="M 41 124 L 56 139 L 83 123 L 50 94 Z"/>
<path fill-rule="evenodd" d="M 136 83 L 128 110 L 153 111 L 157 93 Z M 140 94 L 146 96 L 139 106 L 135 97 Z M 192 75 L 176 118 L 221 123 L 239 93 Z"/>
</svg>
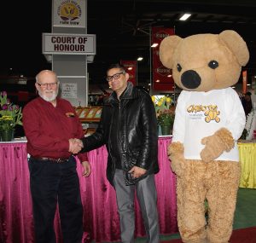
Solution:
<svg viewBox="0 0 256 243">
<path fill-rule="evenodd" d="M 236 84 L 241 67 L 248 59 L 247 44 L 231 30 L 188 38 L 170 36 L 160 44 L 160 61 L 172 69 L 175 84 L 191 92 L 221 90 Z M 209 68 L 211 61 L 218 63 L 218 67 Z M 182 76 L 187 71 L 200 77 L 198 86 L 183 85 Z M 204 115 L 206 123 L 220 122 L 220 114 L 214 107 Z M 201 160 L 185 159 L 183 142 L 175 138 L 174 130 L 175 142 L 169 145 L 168 156 L 172 171 L 177 175 L 177 224 L 183 242 L 228 243 L 236 209 L 240 165 L 236 161 L 217 159 L 234 148 L 232 133 L 219 126 L 211 136 L 203 137 L 201 144 L 205 147 L 200 153 Z"/>
</svg>

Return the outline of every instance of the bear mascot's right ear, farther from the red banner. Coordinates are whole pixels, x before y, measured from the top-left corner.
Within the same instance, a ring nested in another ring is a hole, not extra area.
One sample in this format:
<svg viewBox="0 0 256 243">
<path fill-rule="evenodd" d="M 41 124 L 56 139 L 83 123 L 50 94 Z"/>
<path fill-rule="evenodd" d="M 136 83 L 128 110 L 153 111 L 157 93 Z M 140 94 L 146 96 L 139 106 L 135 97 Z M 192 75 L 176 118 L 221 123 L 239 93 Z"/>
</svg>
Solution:
<svg viewBox="0 0 256 243">
<path fill-rule="evenodd" d="M 249 51 L 247 49 L 247 43 L 245 43 L 241 36 L 237 32 L 227 30 L 221 32 L 219 38 L 236 56 L 238 63 L 241 66 L 246 66 L 249 61 Z"/>
</svg>

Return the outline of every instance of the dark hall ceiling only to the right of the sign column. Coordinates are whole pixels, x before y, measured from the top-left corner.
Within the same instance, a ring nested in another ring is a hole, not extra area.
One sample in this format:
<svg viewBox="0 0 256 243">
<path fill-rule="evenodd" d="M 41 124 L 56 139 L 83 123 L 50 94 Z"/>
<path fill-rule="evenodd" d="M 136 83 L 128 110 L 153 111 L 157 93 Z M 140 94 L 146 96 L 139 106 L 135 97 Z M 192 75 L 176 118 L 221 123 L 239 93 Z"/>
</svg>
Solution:
<svg viewBox="0 0 256 243">
<path fill-rule="evenodd" d="M 90 84 L 104 84 L 109 63 L 120 60 L 137 63 L 139 84 L 150 81 L 150 28 L 175 28 L 185 38 L 197 33 L 235 30 L 247 42 L 250 61 L 248 76 L 256 75 L 256 2 L 255 1 L 172 1 L 172 0 L 89 0 L 88 33 L 96 34 L 96 56 L 88 65 Z M 183 13 L 192 14 L 180 21 Z"/>
</svg>

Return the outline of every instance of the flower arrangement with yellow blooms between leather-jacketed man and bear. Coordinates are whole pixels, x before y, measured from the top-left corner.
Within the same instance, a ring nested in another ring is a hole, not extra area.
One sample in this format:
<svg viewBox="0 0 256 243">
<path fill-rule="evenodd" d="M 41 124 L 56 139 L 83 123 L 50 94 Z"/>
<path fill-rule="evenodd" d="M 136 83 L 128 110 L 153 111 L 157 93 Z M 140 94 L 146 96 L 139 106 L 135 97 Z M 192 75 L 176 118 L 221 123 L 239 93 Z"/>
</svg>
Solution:
<svg viewBox="0 0 256 243">
<path fill-rule="evenodd" d="M 154 102 L 158 124 L 160 126 L 172 126 L 175 117 L 172 98 L 153 95 L 152 101 Z"/>
</svg>

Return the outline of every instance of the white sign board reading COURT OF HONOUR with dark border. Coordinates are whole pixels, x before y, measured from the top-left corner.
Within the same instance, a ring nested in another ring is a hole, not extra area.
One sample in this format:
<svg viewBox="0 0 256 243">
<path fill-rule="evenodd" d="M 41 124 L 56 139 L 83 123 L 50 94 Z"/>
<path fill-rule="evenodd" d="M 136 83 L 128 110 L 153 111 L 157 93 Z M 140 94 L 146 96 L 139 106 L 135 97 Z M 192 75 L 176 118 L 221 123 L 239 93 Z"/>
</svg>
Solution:
<svg viewBox="0 0 256 243">
<path fill-rule="evenodd" d="M 43 33 L 43 54 L 96 55 L 96 35 Z"/>
</svg>

